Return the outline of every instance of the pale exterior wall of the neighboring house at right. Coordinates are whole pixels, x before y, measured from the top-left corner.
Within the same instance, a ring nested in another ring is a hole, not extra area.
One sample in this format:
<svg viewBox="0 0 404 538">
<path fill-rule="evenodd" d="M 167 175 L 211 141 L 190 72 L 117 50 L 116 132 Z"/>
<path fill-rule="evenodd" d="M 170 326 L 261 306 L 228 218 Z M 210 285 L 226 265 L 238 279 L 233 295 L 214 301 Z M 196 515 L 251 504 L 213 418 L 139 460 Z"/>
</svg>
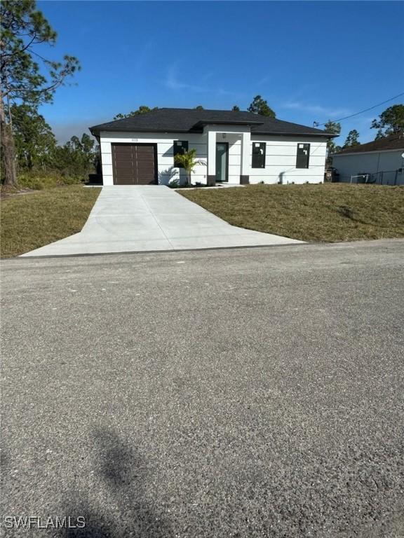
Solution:
<svg viewBox="0 0 404 538">
<path fill-rule="evenodd" d="M 403 152 L 404 148 L 392 151 L 337 154 L 332 156 L 332 166 L 337 168 L 339 181 L 344 183 L 349 183 L 351 176 L 365 172 L 375 174 L 377 182 L 382 179 L 384 185 L 393 185 L 394 181 L 397 185 L 404 185 L 404 173 L 396 174 L 396 170 L 404 165 L 401 157 Z"/>
</svg>

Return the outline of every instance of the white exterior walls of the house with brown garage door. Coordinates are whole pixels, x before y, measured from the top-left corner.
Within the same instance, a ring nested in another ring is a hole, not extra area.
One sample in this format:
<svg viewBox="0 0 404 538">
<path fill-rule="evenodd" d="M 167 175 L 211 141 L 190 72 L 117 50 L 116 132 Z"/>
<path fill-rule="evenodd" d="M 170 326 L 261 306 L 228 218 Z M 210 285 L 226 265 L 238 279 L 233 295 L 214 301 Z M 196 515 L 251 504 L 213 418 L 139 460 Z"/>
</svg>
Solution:
<svg viewBox="0 0 404 538">
<path fill-rule="evenodd" d="M 238 125 L 208 125 L 202 134 L 197 133 L 144 133 L 144 132 L 101 132 L 102 177 L 104 185 L 113 185 L 112 146 L 114 142 L 157 144 L 157 172 L 159 184 L 167 185 L 173 179 L 185 181 L 185 173 L 174 166 L 173 141 L 187 140 L 189 149 L 196 149 L 196 158 L 201 161 L 192 175 L 192 182 L 207 183 L 208 135 L 213 133 L 217 142 L 229 144 L 229 184 L 240 184 L 240 176 L 248 175 L 250 183 L 321 183 L 324 179 L 326 139 L 318 137 L 274 137 L 251 135 L 249 127 Z M 243 139 L 247 140 L 242 163 Z M 266 143 L 265 168 L 253 168 L 253 142 Z M 298 143 L 310 144 L 309 168 L 296 168 Z M 246 158 L 248 156 L 248 158 Z M 212 163 L 211 163 L 212 164 Z M 241 170 L 243 167 L 243 171 Z M 215 170 L 215 167 L 213 167 Z M 248 172 L 248 173 L 246 173 Z M 215 172 L 214 172 L 215 173 Z"/>
</svg>

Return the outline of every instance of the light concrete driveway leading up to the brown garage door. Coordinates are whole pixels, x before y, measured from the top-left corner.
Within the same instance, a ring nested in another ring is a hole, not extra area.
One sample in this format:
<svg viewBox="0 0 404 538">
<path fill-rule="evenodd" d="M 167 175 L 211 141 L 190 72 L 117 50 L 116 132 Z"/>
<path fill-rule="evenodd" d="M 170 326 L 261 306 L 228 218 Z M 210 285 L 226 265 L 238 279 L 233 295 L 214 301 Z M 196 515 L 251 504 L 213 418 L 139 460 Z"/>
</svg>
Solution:
<svg viewBox="0 0 404 538">
<path fill-rule="evenodd" d="M 80 233 L 22 256 L 212 249 L 301 243 L 231 226 L 165 186 L 108 186 Z"/>
</svg>

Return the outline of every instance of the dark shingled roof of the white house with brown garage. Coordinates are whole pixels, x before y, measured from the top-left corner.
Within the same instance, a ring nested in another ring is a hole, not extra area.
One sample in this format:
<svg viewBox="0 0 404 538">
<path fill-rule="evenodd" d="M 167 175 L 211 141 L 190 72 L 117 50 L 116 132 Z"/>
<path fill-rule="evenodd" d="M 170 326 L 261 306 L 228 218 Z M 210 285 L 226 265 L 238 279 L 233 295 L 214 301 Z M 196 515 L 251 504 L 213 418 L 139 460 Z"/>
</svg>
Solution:
<svg viewBox="0 0 404 538">
<path fill-rule="evenodd" d="M 96 136 L 100 135 L 100 131 L 202 132 L 203 125 L 207 123 L 250 125 L 251 132 L 257 135 L 336 136 L 320 129 L 276 120 L 252 112 L 195 109 L 157 109 L 130 116 L 130 118 L 94 125 L 90 127 L 90 132 Z"/>
</svg>

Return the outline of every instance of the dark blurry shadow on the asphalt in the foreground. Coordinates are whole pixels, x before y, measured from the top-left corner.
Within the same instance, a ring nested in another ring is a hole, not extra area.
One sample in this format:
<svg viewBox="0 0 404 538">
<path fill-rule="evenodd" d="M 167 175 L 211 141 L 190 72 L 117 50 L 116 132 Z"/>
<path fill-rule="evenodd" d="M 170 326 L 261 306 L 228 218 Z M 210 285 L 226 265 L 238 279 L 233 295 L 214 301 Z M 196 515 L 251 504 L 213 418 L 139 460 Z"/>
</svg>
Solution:
<svg viewBox="0 0 404 538">
<path fill-rule="evenodd" d="M 147 462 L 112 429 L 94 432 L 94 472 L 100 491 L 85 497 L 72 491 L 65 513 L 86 527 L 65 530 L 65 538 L 169 538 L 173 530 L 147 498 Z M 107 501 L 105 500 L 107 499 Z"/>
</svg>

